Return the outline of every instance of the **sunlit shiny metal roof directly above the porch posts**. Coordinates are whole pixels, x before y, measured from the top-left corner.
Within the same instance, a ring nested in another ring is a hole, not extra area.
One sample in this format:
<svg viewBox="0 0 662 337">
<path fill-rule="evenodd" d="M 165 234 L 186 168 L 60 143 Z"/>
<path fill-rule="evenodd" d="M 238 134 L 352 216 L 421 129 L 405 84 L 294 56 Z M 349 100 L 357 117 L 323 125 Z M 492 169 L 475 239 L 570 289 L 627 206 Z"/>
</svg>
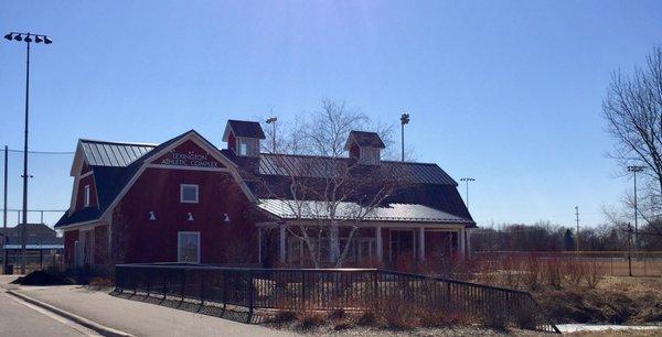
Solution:
<svg viewBox="0 0 662 337">
<path fill-rule="evenodd" d="M 258 207 L 281 219 L 323 220 L 330 218 L 328 204 L 314 200 L 259 199 Z M 473 224 L 471 219 L 419 204 L 389 204 L 367 209 L 356 203 L 342 202 L 335 213 L 335 219 L 339 220 L 362 218 L 363 221 Z"/>
</svg>

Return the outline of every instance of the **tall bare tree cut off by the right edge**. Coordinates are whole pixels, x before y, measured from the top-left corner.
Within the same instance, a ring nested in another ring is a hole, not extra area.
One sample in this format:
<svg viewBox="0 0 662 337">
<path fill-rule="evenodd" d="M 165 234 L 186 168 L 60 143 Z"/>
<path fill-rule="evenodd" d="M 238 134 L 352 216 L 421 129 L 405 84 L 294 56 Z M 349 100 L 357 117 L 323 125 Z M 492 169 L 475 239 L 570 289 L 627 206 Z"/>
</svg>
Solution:
<svg viewBox="0 0 662 337">
<path fill-rule="evenodd" d="M 602 116 L 616 141 L 611 156 L 623 172 L 630 165 L 645 167 L 638 209 L 649 224 L 656 224 L 650 218 L 660 214 L 662 196 L 662 47 L 653 48 L 645 66 L 632 75 L 612 74 Z M 662 228 L 652 227 L 662 235 Z"/>
</svg>

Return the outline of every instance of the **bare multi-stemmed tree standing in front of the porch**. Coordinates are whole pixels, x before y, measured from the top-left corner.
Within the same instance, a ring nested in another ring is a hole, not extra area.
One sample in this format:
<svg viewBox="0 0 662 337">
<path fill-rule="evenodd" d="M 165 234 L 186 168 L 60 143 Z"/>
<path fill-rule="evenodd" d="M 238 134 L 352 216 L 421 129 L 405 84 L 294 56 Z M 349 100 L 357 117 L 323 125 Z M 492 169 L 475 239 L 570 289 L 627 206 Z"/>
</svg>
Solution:
<svg viewBox="0 0 662 337">
<path fill-rule="evenodd" d="M 349 159 L 345 142 L 350 132 L 371 126 L 367 116 L 325 99 L 309 120 L 298 119 L 280 135 L 282 143 L 277 149 L 289 155 L 271 156 L 286 180 L 264 185 L 286 208 L 288 231 L 303 242 L 316 268 L 324 262 L 342 267 L 361 222 L 406 184 L 402 166 L 364 165 Z M 389 144 L 391 130 L 381 127 L 375 131 Z M 349 228 L 344 240 L 341 227 Z"/>
</svg>

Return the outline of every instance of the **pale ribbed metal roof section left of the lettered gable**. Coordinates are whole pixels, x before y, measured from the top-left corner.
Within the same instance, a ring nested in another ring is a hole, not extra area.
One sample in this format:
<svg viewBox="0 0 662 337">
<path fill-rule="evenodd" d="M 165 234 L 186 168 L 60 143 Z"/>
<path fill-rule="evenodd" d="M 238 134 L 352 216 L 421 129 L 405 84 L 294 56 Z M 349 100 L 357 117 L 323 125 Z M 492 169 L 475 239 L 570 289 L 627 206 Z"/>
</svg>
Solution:
<svg viewBox="0 0 662 337">
<path fill-rule="evenodd" d="M 88 165 L 126 167 L 157 145 L 81 140 Z"/>
</svg>

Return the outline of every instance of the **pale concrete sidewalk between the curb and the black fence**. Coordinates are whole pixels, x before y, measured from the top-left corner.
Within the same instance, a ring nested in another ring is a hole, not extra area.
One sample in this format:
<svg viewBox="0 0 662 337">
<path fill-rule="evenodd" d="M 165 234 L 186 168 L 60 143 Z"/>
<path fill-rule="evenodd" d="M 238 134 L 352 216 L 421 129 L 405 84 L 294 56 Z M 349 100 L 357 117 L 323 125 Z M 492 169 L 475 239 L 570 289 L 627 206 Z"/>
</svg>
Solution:
<svg viewBox="0 0 662 337">
<path fill-rule="evenodd" d="M 295 336 L 258 325 L 118 298 L 79 285 L 21 286 L 14 291 L 135 336 Z"/>
</svg>

